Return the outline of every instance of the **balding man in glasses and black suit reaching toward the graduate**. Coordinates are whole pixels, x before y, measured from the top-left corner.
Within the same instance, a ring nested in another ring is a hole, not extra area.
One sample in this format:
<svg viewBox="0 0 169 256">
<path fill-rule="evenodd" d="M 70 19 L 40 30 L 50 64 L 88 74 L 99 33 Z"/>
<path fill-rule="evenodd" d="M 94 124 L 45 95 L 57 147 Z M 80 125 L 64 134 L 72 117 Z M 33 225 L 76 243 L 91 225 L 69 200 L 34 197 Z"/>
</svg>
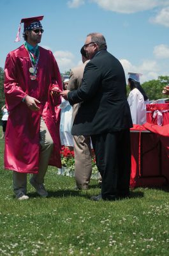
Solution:
<svg viewBox="0 0 169 256">
<path fill-rule="evenodd" d="M 116 200 L 129 195 L 131 114 L 126 99 L 126 79 L 121 63 L 107 52 L 105 37 L 87 35 L 87 63 L 82 86 L 61 95 L 70 104 L 80 102 L 73 135 L 91 136 L 96 164 L 101 173 L 101 195 L 92 200 Z"/>
</svg>

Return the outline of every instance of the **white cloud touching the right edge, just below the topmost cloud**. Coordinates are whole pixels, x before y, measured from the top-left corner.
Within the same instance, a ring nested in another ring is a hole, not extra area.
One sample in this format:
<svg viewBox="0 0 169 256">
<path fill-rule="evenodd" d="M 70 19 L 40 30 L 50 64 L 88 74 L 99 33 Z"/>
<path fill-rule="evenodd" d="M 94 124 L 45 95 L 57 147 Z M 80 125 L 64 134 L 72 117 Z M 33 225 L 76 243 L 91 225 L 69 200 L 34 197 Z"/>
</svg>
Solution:
<svg viewBox="0 0 169 256">
<path fill-rule="evenodd" d="M 169 27 L 169 6 L 163 8 L 156 17 L 150 19 L 152 23 L 160 24 Z"/>
</svg>

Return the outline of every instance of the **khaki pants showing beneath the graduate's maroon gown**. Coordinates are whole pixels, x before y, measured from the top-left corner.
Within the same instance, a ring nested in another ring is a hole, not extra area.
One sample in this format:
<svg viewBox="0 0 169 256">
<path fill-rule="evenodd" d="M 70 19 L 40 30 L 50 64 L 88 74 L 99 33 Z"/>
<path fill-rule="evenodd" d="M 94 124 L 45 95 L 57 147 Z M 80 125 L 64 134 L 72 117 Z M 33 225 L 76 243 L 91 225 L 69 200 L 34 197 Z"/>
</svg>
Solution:
<svg viewBox="0 0 169 256">
<path fill-rule="evenodd" d="M 43 184 L 54 142 L 42 117 L 40 122 L 40 145 L 39 172 L 33 176 L 37 183 Z M 20 197 L 23 193 L 26 195 L 27 173 L 13 172 L 13 191 L 17 197 Z"/>
</svg>

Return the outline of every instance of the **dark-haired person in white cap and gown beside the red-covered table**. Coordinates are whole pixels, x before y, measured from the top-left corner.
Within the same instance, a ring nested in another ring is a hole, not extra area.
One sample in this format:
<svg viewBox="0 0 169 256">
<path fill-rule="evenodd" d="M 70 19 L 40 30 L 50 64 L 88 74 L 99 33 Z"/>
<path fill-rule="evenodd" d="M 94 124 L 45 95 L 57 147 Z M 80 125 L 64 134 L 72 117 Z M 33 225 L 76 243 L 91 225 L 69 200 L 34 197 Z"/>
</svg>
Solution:
<svg viewBox="0 0 169 256">
<path fill-rule="evenodd" d="M 140 85 L 140 76 L 142 74 L 129 72 L 128 85 L 130 93 L 128 96 L 129 108 L 133 124 L 145 124 L 146 122 L 146 104 L 149 102 L 142 86 Z"/>
</svg>

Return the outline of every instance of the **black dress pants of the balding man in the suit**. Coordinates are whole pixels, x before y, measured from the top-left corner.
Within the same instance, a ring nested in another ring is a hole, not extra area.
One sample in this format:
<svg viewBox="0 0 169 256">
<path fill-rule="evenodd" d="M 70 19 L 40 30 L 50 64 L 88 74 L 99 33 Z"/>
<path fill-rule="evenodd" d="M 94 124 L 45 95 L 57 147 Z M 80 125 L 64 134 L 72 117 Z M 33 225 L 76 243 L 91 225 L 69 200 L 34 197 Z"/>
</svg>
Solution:
<svg viewBox="0 0 169 256">
<path fill-rule="evenodd" d="M 129 194 L 131 148 L 129 129 L 91 136 L 102 177 L 101 196 L 114 200 Z"/>
</svg>

